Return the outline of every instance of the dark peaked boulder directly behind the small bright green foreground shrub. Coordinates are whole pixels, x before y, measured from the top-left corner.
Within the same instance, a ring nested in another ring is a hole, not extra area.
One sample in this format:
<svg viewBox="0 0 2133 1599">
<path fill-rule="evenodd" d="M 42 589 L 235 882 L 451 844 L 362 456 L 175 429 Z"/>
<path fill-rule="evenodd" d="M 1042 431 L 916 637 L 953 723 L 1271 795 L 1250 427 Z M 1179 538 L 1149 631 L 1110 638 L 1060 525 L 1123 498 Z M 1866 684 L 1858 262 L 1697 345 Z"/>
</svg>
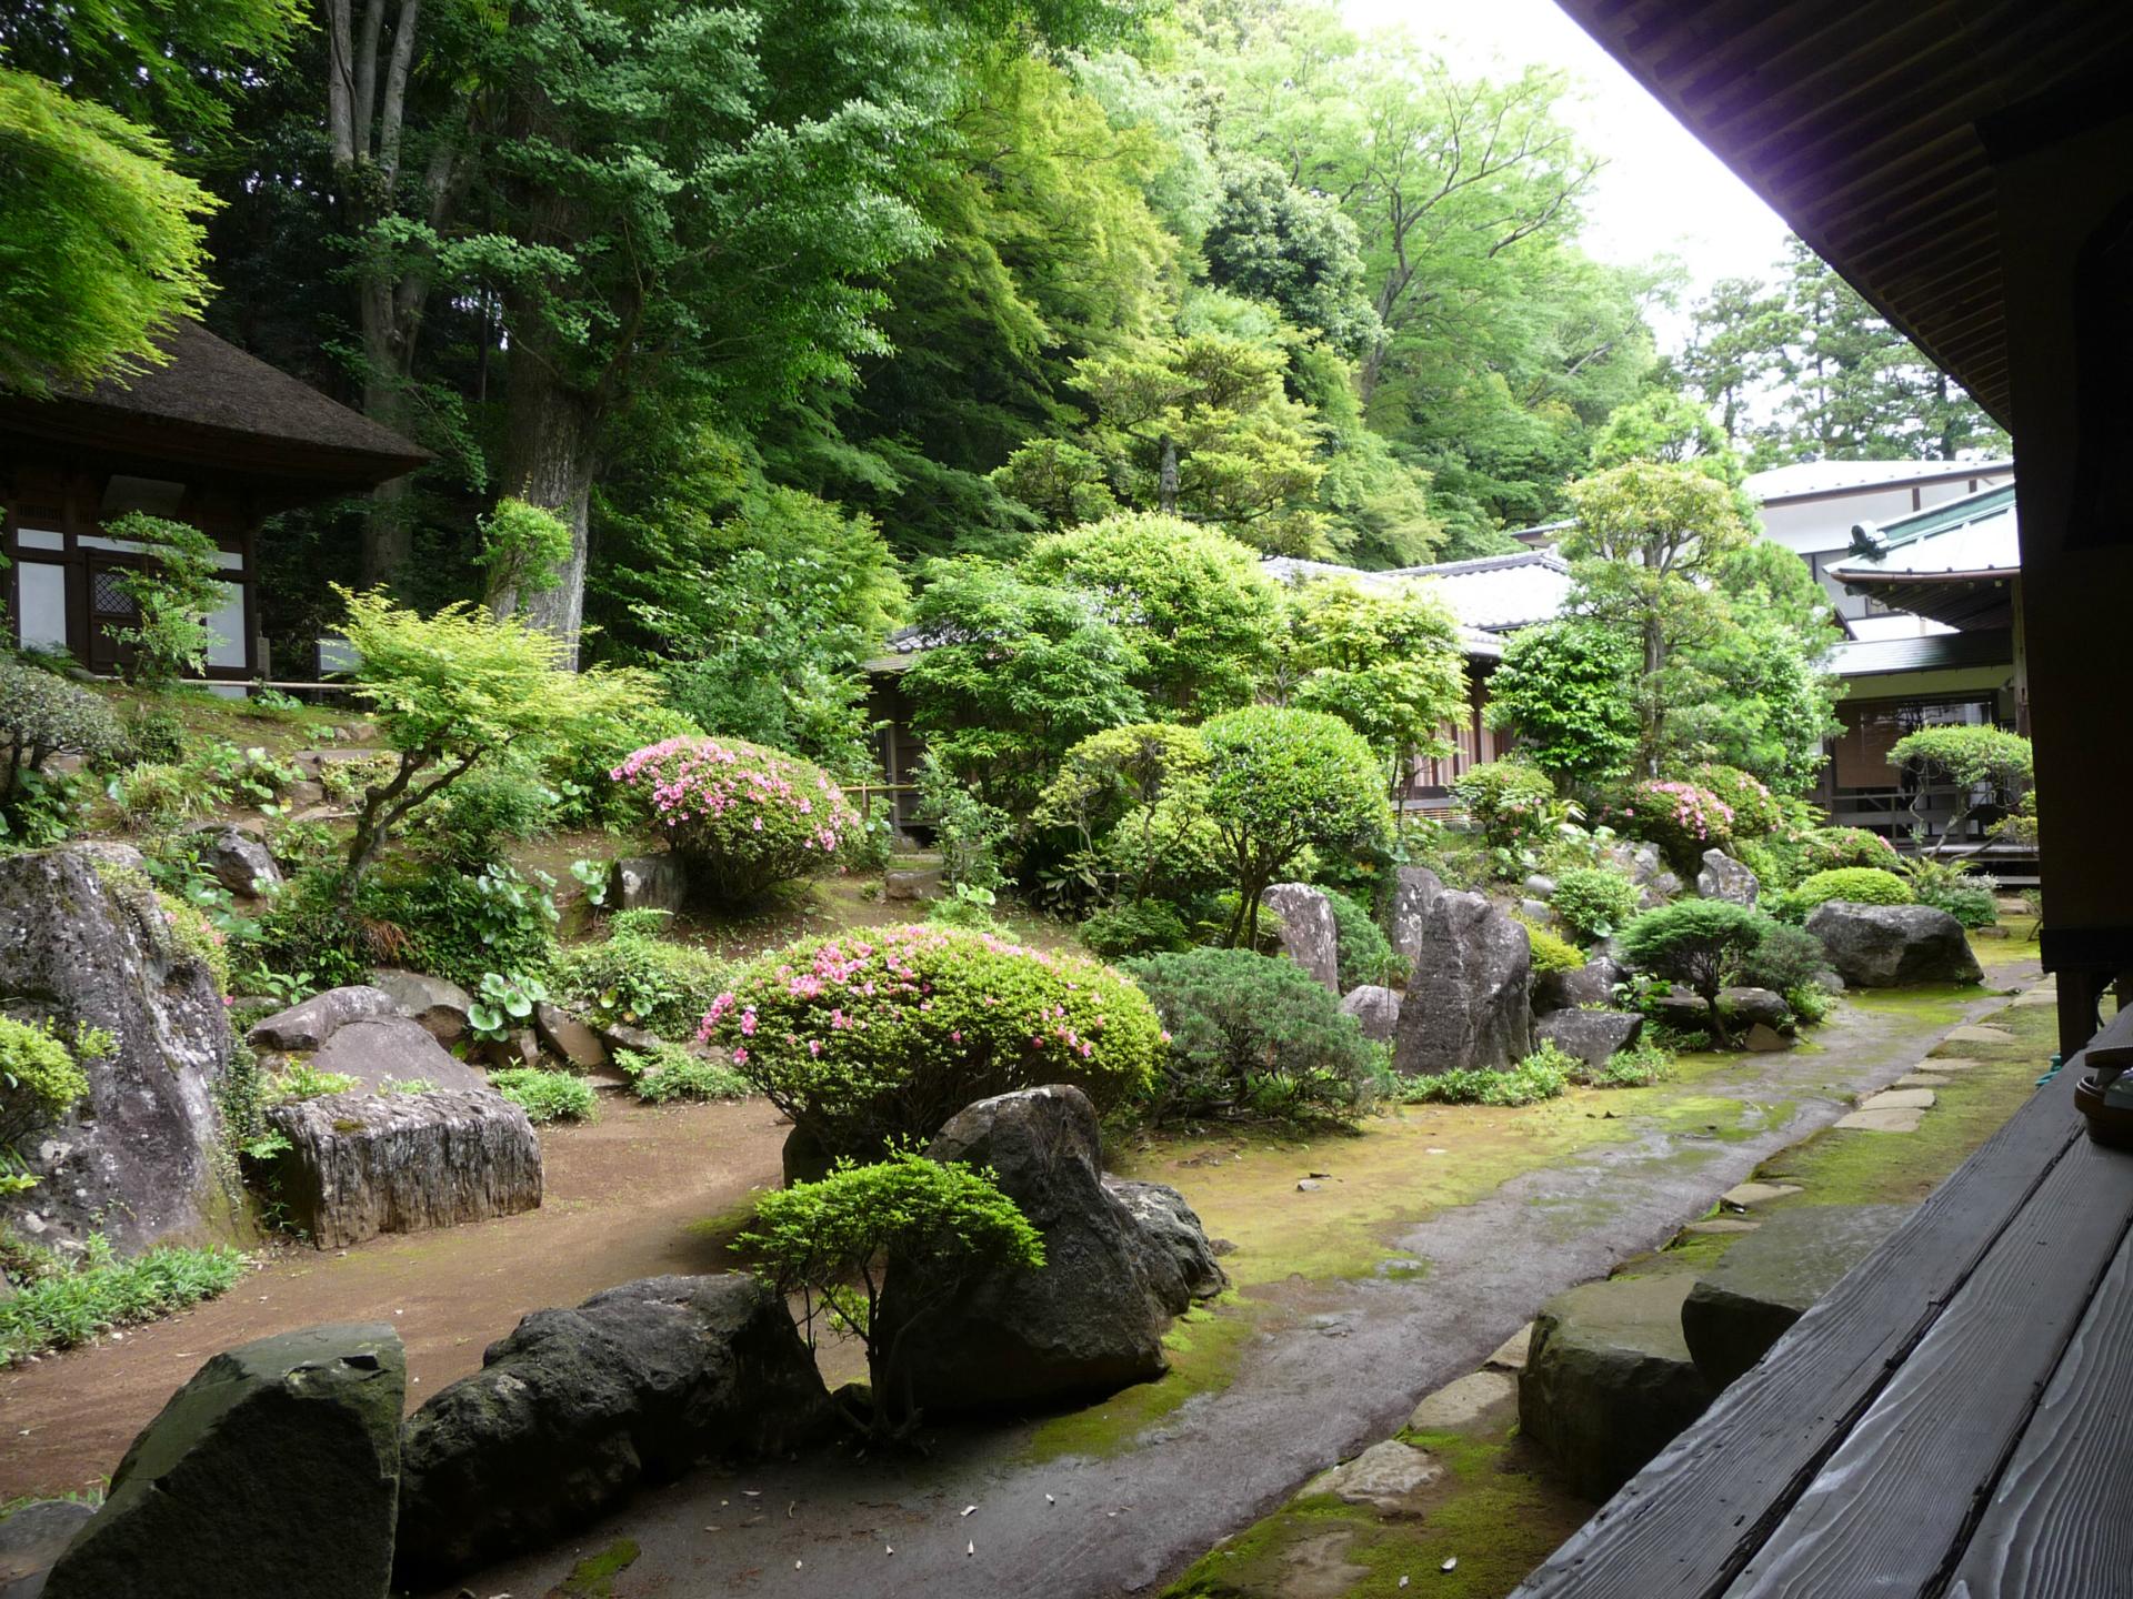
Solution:
<svg viewBox="0 0 2133 1599">
<path fill-rule="evenodd" d="M 1043 1234 L 1039 1271 L 981 1275 L 939 1303 L 926 1260 L 892 1258 L 881 1320 L 909 1328 L 911 1401 L 928 1411 L 1109 1392 L 1169 1369 L 1175 1303 L 1135 1213 L 1103 1183 L 1096 1109 L 1052 1085 L 958 1111 L 926 1151 L 990 1166 Z M 1190 1215 L 1190 1213 L 1188 1213 Z M 932 1309 L 917 1309 L 934 1305 Z M 917 1318 L 924 1318 L 919 1322 Z"/>
</svg>

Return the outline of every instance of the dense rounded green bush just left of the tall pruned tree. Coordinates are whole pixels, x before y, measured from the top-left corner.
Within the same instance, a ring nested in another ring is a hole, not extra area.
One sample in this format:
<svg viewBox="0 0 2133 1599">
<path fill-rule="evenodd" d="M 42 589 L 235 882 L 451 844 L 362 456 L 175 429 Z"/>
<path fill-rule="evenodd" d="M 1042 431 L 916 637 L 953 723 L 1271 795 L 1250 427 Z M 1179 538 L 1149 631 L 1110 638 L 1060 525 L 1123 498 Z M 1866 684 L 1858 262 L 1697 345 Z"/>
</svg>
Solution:
<svg viewBox="0 0 2133 1599">
<path fill-rule="evenodd" d="M 1636 759 L 1636 646 L 1583 618 L 1527 627 L 1489 678 L 1489 725 L 1570 782 L 1608 782 Z"/>
</svg>

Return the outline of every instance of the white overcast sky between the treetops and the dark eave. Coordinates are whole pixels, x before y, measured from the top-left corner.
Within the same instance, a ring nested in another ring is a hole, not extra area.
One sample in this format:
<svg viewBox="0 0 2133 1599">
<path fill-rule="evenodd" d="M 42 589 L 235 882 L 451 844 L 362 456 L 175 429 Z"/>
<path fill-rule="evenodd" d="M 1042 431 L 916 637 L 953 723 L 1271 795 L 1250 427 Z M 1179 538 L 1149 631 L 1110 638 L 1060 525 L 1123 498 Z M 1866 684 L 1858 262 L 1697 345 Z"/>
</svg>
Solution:
<svg viewBox="0 0 2133 1599">
<path fill-rule="evenodd" d="M 1563 115 L 1606 158 L 1585 207 L 1595 256 L 1679 256 L 1694 296 L 1717 277 L 1768 273 L 1783 252 L 1787 228 L 1777 213 L 1553 0 L 1342 0 L 1342 11 L 1359 30 L 1397 23 L 1442 41 L 1465 72 L 1493 62 L 1568 68 L 1581 98 Z M 1662 337 L 1672 333 L 1662 328 Z"/>
</svg>

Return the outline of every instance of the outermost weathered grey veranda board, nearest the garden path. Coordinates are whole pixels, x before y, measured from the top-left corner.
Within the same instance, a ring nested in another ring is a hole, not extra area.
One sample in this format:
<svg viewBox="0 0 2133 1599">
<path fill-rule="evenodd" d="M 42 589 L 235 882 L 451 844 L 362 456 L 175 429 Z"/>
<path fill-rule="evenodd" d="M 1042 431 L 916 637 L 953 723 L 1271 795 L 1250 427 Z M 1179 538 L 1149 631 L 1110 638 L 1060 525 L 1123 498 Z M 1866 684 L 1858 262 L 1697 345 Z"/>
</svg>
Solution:
<svg viewBox="0 0 2133 1599">
<path fill-rule="evenodd" d="M 2075 1143 L 2069 1064 L 1514 1599 L 1711 1599 Z"/>
</svg>

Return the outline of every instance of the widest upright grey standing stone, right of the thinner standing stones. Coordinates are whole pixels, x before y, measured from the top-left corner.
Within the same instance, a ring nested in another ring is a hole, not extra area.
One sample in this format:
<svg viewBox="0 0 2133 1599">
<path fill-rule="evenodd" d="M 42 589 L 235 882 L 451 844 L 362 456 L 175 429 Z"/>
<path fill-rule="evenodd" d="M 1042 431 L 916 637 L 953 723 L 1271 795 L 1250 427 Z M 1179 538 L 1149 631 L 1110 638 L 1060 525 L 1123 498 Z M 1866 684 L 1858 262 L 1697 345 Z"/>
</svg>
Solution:
<svg viewBox="0 0 2133 1599">
<path fill-rule="evenodd" d="M 1410 1077 L 1512 1066 L 1534 1049 L 1531 998 L 1525 927 L 1478 893 L 1446 889 L 1423 912 L 1393 1064 Z"/>
</svg>

